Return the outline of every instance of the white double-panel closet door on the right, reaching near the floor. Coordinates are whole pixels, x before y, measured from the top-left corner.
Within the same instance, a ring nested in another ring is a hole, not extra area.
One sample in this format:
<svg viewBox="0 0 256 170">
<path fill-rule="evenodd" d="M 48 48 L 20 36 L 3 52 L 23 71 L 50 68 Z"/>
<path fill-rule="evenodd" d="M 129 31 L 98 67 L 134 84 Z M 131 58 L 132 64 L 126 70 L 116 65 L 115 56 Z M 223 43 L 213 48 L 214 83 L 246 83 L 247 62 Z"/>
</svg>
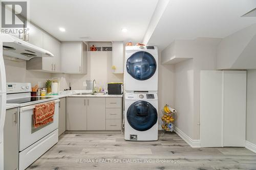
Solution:
<svg viewBox="0 0 256 170">
<path fill-rule="evenodd" d="M 246 71 L 201 71 L 201 147 L 245 147 Z"/>
</svg>

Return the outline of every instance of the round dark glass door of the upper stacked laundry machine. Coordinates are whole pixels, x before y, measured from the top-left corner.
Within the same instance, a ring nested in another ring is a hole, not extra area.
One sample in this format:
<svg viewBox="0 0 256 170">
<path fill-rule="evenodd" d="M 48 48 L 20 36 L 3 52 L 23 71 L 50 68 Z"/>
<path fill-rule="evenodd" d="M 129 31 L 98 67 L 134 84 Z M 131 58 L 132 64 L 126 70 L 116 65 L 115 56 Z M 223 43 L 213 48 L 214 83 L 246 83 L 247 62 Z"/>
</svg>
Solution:
<svg viewBox="0 0 256 170">
<path fill-rule="evenodd" d="M 137 80 L 150 79 L 156 72 L 155 58 L 147 52 L 134 53 L 126 62 L 127 72 Z"/>
</svg>

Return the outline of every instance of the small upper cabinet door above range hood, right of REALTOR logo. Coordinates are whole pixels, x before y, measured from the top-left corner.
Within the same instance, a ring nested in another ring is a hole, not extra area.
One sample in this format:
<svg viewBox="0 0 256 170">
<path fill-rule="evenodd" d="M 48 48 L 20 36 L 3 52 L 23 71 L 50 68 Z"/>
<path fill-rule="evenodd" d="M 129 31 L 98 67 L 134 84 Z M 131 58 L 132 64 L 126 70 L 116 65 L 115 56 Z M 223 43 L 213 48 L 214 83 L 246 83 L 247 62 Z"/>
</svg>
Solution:
<svg viewBox="0 0 256 170">
<path fill-rule="evenodd" d="M 28 23 L 28 29 L 29 29 L 29 43 L 36 45 L 38 47 L 43 47 L 42 41 L 43 41 L 43 33 L 40 29 L 32 25 L 31 23 Z"/>
</svg>

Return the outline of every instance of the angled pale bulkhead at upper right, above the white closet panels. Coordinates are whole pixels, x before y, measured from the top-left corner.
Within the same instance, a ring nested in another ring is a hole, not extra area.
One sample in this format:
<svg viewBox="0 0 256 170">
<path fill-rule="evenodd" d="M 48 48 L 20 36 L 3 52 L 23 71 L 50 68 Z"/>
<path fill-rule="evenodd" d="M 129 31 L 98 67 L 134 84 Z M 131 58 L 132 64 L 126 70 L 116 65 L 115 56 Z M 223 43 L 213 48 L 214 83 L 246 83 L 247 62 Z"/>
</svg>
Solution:
<svg viewBox="0 0 256 170">
<path fill-rule="evenodd" d="M 255 69 L 255 41 L 256 24 L 223 38 L 218 47 L 217 69 Z"/>
</svg>

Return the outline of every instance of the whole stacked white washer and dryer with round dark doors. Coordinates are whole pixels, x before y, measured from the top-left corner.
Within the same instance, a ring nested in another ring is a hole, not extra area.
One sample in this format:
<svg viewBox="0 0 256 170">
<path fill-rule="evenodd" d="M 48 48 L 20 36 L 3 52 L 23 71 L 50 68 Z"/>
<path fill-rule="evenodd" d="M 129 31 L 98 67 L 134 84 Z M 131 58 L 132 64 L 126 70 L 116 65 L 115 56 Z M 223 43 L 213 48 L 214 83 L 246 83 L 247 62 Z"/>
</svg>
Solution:
<svg viewBox="0 0 256 170">
<path fill-rule="evenodd" d="M 125 48 L 124 139 L 158 140 L 158 50 L 156 46 Z"/>
</svg>

